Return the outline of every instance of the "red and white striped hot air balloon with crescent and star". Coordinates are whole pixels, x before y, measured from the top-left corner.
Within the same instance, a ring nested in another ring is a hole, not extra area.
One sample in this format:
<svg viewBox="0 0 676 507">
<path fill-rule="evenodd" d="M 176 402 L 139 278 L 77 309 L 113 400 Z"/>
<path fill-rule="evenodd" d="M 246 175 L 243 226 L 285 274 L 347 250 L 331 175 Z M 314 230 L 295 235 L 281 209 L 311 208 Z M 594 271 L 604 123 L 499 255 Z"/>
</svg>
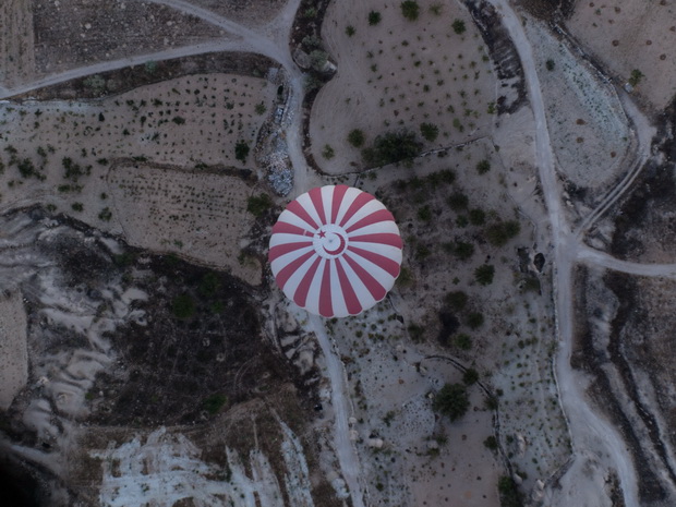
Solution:
<svg viewBox="0 0 676 507">
<path fill-rule="evenodd" d="M 373 195 L 347 185 L 312 189 L 273 227 L 268 259 L 279 288 L 324 317 L 357 315 L 383 300 L 401 267 L 395 219 Z"/>
</svg>

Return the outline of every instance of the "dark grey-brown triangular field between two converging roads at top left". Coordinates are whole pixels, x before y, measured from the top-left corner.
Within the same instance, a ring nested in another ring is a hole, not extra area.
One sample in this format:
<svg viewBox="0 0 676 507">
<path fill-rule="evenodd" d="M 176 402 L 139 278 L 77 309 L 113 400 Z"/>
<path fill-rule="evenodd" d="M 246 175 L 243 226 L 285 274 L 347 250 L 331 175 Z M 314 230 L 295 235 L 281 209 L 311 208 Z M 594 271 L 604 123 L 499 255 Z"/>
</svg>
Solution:
<svg viewBox="0 0 676 507">
<path fill-rule="evenodd" d="M 38 0 L 33 10 L 39 73 L 144 55 L 215 38 L 213 25 L 154 2 Z"/>
</svg>

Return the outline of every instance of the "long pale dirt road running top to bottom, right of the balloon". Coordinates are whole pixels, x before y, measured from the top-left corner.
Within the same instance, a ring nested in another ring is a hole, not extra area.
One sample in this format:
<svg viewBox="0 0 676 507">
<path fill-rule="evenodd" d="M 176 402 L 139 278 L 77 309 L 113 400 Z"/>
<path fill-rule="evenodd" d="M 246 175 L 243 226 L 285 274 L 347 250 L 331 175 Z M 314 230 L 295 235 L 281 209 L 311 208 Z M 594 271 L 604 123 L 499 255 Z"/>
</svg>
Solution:
<svg viewBox="0 0 676 507">
<path fill-rule="evenodd" d="M 587 402 L 584 386 L 570 365 L 572 352 L 572 281 L 571 270 L 578 256 L 578 243 L 571 238 L 568 224 L 562 212 L 560 189 L 556 182 L 554 157 L 547 130 L 544 100 L 540 80 L 532 55 L 531 45 L 526 37 L 521 20 L 507 0 L 491 0 L 500 12 L 510 38 L 512 39 L 526 75 L 531 107 L 535 118 L 535 162 L 550 218 L 551 241 L 555 265 L 554 301 L 559 337 L 559 351 L 556 358 L 556 376 L 560 401 L 568 421 L 574 446 L 574 461 L 564 474 L 562 492 L 555 495 L 558 505 L 572 505 L 571 498 L 589 499 L 594 505 L 603 505 L 606 498 L 603 487 L 597 487 L 593 474 L 586 472 L 590 466 L 600 467 L 602 476 L 611 468 L 617 470 L 628 507 L 638 506 L 637 475 L 631 456 L 617 431 L 601 419 Z M 581 497 L 580 497 L 581 493 Z M 550 494 L 554 494 L 550 492 Z M 594 498 L 595 497 L 595 498 Z M 555 504 L 555 505 L 556 505 Z"/>
</svg>

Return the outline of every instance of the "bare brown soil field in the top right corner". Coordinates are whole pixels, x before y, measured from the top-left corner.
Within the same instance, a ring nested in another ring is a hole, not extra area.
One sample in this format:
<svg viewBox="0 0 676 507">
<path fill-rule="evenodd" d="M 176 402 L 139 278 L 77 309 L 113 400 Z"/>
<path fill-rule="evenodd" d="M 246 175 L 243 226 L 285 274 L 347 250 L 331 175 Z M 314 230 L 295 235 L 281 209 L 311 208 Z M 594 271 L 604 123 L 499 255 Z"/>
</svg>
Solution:
<svg viewBox="0 0 676 507">
<path fill-rule="evenodd" d="M 623 82 L 640 71 L 636 92 L 660 110 L 676 94 L 675 20 L 671 0 L 578 1 L 566 25 Z"/>
</svg>

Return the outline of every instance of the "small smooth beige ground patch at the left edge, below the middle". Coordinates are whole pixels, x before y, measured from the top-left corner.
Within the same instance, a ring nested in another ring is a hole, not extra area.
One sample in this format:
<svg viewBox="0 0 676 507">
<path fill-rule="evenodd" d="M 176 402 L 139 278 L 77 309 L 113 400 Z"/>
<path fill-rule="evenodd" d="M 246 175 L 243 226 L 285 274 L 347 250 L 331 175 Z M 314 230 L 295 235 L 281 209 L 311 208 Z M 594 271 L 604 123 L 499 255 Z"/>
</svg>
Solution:
<svg viewBox="0 0 676 507">
<path fill-rule="evenodd" d="M 7 410 L 28 381 L 26 312 L 20 292 L 0 300 L 0 410 Z"/>
</svg>

